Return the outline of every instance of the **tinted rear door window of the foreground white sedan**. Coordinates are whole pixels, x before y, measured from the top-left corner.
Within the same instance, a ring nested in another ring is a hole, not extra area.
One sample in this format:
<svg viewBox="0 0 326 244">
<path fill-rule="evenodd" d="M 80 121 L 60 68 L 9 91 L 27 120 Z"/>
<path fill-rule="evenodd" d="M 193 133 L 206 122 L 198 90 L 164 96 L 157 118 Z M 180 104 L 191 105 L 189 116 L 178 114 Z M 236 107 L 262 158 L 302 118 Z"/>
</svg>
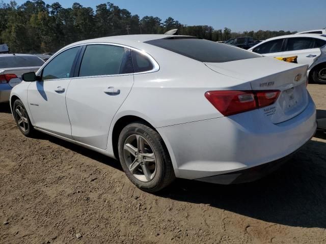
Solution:
<svg viewBox="0 0 326 244">
<path fill-rule="evenodd" d="M 88 45 L 80 65 L 79 76 L 132 73 L 130 69 L 129 49 L 112 45 Z"/>
</svg>

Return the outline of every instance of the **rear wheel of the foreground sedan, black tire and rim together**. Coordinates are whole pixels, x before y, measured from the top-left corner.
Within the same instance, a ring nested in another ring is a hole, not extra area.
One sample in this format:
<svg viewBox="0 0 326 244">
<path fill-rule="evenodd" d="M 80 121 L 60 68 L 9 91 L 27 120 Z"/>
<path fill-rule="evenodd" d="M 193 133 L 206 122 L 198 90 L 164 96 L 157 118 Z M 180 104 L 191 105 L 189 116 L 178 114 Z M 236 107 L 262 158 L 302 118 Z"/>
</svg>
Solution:
<svg viewBox="0 0 326 244">
<path fill-rule="evenodd" d="M 120 133 L 118 150 L 125 174 L 139 189 L 157 192 L 175 179 L 164 141 L 146 124 L 127 125 Z"/>
</svg>

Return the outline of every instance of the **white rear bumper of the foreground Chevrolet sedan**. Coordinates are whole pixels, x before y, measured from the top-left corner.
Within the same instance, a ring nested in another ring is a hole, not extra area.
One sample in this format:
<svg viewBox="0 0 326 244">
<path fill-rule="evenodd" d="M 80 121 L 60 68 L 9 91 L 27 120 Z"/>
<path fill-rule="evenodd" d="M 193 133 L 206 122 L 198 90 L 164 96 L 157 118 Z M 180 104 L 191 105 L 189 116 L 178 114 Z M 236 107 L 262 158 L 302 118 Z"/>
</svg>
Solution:
<svg viewBox="0 0 326 244">
<path fill-rule="evenodd" d="M 157 131 L 168 147 L 175 175 L 199 179 L 273 165 L 309 141 L 316 128 L 316 109 L 309 96 L 304 111 L 280 124 L 253 110 Z"/>
</svg>

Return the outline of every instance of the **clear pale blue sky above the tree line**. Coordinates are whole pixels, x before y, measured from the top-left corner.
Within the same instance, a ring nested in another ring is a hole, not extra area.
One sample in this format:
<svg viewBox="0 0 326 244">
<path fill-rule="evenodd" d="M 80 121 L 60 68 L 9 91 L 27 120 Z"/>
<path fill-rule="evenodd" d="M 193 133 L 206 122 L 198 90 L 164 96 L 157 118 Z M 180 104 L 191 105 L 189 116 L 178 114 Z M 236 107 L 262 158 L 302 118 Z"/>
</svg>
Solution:
<svg viewBox="0 0 326 244">
<path fill-rule="evenodd" d="M 105 0 L 43 0 L 59 2 L 64 8 L 77 2 L 84 7 L 106 3 Z M 9 1 L 4 1 L 9 2 Z M 23 0 L 16 0 L 18 5 Z M 211 25 L 234 32 L 273 30 L 307 31 L 326 27 L 326 0 L 111 0 L 111 3 L 141 18 L 168 17 L 187 25 Z"/>
</svg>

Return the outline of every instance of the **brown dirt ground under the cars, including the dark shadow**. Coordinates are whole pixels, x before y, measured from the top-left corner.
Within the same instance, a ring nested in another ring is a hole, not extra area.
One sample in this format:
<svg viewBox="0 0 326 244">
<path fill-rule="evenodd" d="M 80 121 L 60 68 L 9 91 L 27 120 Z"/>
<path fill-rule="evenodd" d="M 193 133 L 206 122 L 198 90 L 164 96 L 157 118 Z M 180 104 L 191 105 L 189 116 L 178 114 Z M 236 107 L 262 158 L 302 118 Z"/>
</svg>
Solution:
<svg viewBox="0 0 326 244">
<path fill-rule="evenodd" d="M 326 85 L 308 88 L 324 116 Z M 178 179 L 154 195 L 115 160 L 25 138 L 2 105 L 0 243 L 326 243 L 326 134 L 256 182 Z"/>
</svg>

